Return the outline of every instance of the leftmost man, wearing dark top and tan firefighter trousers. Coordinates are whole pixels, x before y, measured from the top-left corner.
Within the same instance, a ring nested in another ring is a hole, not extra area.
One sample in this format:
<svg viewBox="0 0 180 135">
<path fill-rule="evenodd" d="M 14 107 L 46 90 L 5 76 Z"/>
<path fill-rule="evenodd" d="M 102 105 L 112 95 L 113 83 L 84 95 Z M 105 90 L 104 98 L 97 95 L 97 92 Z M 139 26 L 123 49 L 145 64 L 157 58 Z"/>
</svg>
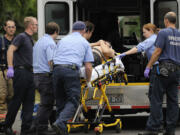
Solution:
<svg viewBox="0 0 180 135">
<path fill-rule="evenodd" d="M 7 50 L 16 32 L 16 25 L 13 20 L 7 20 L 4 24 L 4 36 L 0 37 L 0 130 L 5 115 L 7 104 L 13 96 L 12 79 L 6 78 L 7 72 Z"/>
</svg>

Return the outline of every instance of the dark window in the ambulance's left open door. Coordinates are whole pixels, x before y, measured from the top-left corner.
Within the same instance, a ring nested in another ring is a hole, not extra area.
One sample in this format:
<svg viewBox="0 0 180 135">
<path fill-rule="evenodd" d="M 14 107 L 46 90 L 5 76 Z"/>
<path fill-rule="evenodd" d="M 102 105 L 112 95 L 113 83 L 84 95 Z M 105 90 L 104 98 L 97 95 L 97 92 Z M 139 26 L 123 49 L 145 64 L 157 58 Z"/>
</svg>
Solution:
<svg viewBox="0 0 180 135">
<path fill-rule="evenodd" d="M 45 5 L 45 25 L 51 21 L 60 26 L 60 35 L 66 35 L 69 28 L 69 6 L 65 2 L 48 2 Z"/>
</svg>

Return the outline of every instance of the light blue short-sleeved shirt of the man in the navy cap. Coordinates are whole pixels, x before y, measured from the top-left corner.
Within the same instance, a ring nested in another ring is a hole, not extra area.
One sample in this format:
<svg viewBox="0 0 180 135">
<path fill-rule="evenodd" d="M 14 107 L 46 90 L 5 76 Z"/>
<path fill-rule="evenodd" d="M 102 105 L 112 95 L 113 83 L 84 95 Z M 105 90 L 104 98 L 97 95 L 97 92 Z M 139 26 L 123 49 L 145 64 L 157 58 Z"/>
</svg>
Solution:
<svg viewBox="0 0 180 135">
<path fill-rule="evenodd" d="M 83 62 L 93 61 L 90 44 L 79 32 L 73 32 L 61 39 L 53 58 L 54 64 L 76 64 L 78 67 Z"/>
</svg>

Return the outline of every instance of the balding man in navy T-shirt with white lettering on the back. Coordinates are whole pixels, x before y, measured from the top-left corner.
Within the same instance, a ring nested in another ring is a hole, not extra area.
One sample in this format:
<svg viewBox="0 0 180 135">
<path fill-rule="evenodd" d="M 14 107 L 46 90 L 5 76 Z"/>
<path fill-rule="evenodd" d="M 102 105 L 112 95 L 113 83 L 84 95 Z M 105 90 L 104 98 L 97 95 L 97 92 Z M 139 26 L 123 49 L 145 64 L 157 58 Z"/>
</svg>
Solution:
<svg viewBox="0 0 180 135">
<path fill-rule="evenodd" d="M 179 115 L 178 79 L 180 71 L 180 32 L 176 29 L 176 14 L 168 12 L 164 16 L 165 29 L 162 29 L 155 42 L 156 49 L 145 69 L 145 77 L 153 63 L 159 61 L 159 70 L 152 87 L 150 116 L 147 131 L 142 135 L 157 135 L 161 126 L 163 94 L 166 93 L 166 131 L 164 135 L 175 135 Z"/>
</svg>

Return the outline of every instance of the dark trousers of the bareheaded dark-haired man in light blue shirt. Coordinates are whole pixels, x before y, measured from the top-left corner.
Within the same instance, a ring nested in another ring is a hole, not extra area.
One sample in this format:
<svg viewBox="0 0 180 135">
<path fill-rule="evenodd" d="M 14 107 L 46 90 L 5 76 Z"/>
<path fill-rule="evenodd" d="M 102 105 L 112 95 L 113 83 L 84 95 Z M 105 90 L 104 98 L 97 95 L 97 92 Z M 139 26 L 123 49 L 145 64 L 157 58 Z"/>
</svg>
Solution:
<svg viewBox="0 0 180 135">
<path fill-rule="evenodd" d="M 54 105 L 54 94 L 52 76 L 48 73 L 34 74 L 35 88 L 40 93 L 40 106 L 37 112 L 35 123 L 38 130 L 48 129 L 48 119 L 52 113 Z"/>
</svg>

